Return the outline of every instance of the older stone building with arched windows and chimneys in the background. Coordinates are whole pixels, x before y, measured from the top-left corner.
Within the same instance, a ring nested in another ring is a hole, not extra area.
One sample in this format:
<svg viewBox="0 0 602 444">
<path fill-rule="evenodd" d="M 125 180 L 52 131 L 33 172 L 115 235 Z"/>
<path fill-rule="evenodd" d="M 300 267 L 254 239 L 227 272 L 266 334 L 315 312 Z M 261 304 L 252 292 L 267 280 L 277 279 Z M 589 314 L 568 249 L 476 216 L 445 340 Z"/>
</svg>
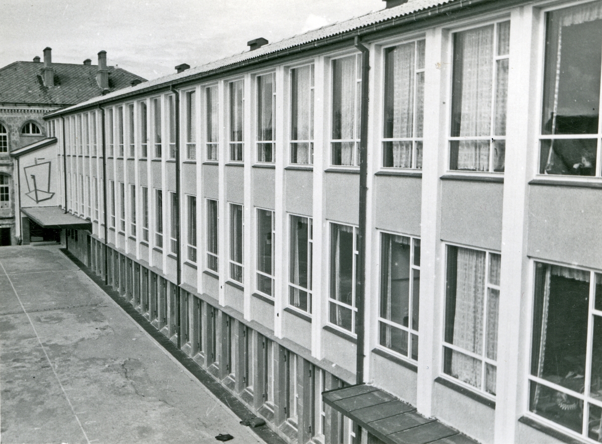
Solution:
<svg viewBox="0 0 602 444">
<path fill-rule="evenodd" d="M 16 244 L 13 162 L 9 154 L 46 137 L 44 113 L 140 83 L 145 79 L 121 68 L 107 66 L 107 53 L 98 53 L 98 66 L 90 59 L 81 65 L 53 63 L 51 48 L 44 61 L 16 61 L 0 68 L 0 245 Z M 27 204 L 25 203 L 25 206 Z"/>
</svg>

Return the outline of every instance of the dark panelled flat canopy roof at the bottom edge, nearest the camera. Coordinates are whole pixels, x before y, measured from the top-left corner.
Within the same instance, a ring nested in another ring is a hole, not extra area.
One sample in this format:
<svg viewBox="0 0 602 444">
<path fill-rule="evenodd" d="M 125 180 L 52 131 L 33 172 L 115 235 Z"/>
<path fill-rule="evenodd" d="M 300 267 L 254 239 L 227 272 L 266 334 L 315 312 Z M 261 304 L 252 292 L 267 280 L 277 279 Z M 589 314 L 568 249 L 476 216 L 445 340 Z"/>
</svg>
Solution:
<svg viewBox="0 0 602 444">
<path fill-rule="evenodd" d="M 426 418 L 391 393 L 367 384 L 322 393 L 326 404 L 387 444 L 477 444 L 468 436 Z"/>
</svg>

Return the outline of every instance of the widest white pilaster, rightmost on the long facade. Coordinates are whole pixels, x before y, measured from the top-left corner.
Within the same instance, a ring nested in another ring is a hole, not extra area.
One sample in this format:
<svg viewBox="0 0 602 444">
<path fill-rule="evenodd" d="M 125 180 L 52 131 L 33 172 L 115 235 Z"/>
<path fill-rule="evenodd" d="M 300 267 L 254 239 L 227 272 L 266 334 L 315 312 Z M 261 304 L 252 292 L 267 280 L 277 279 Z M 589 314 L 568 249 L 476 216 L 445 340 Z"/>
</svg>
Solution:
<svg viewBox="0 0 602 444">
<path fill-rule="evenodd" d="M 506 159 L 503 217 L 501 227 L 500 302 L 498 308 L 496 443 L 515 442 L 517 421 L 527 396 L 527 368 L 530 338 L 529 259 L 526 256 L 528 187 L 536 156 L 537 72 L 540 60 L 533 40 L 533 9 L 515 8 L 510 13 L 510 60 L 506 113 Z M 530 122 L 534 127 L 530 131 Z M 530 134 L 531 132 L 531 134 Z M 524 297 L 529 295 L 529 297 Z"/>
</svg>

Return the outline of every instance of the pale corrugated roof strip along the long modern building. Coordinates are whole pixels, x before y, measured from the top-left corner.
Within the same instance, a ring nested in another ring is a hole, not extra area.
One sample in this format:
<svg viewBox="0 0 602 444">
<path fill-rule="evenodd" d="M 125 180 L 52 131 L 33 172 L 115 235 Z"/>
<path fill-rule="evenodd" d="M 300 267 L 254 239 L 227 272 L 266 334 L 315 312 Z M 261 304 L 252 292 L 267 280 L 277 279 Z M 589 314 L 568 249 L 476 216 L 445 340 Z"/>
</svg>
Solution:
<svg viewBox="0 0 602 444">
<path fill-rule="evenodd" d="M 426 10 L 429 8 L 436 7 L 438 5 L 444 5 L 455 0 L 408 0 L 407 3 L 396 6 L 394 8 L 383 9 L 380 11 L 371 12 L 364 16 L 354 17 L 343 22 L 333 23 L 332 25 L 323 26 L 313 31 L 305 32 L 304 34 L 294 35 L 288 39 L 281 40 L 279 42 L 270 43 L 262 46 L 261 48 L 255 49 L 255 51 L 245 51 L 240 54 L 232 55 L 220 60 L 210 62 L 208 64 L 197 66 L 191 69 L 185 70 L 182 73 L 170 74 L 157 79 L 149 80 L 140 85 L 134 87 L 123 88 L 119 91 L 113 91 L 102 97 L 95 97 L 94 99 L 87 100 L 86 102 L 79 103 L 78 105 L 70 106 L 69 108 L 55 111 L 56 113 L 63 113 L 69 111 L 72 108 L 79 108 L 85 105 L 93 105 L 97 102 L 102 102 L 107 99 L 113 99 L 123 94 L 133 93 L 138 90 L 146 90 L 147 88 L 158 87 L 160 85 L 169 85 L 172 82 L 191 77 L 194 75 L 202 74 L 205 72 L 211 72 L 216 69 L 231 66 L 243 61 L 252 60 L 253 58 L 259 58 L 263 55 L 273 54 L 275 52 L 283 51 L 285 49 L 294 48 L 296 46 L 305 45 L 306 43 L 317 42 L 318 40 L 326 39 L 337 34 L 343 34 L 344 32 L 353 31 L 355 29 L 364 28 L 365 26 L 374 25 L 376 23 L 385 22 L 386 20 L 395 19 L 397 17 L 406 16 L 418 11 Z M 53 113 L 51 113 L 53 114 Z"/>
</svg>

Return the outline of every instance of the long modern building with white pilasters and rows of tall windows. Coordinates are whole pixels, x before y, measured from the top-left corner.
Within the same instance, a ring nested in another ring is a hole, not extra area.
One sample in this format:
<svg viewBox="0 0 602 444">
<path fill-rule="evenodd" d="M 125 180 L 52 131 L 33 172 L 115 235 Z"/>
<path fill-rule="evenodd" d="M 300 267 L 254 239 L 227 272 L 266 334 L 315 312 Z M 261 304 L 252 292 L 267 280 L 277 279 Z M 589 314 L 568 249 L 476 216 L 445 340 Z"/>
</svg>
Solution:
<svg viewBox="0 0 602 444">
<path fill-rule="evenodd" d="M 46 115 L 64 241 L 291 443 L 600 442 L 602 1 L 388 3 Z"/>
</svg>

